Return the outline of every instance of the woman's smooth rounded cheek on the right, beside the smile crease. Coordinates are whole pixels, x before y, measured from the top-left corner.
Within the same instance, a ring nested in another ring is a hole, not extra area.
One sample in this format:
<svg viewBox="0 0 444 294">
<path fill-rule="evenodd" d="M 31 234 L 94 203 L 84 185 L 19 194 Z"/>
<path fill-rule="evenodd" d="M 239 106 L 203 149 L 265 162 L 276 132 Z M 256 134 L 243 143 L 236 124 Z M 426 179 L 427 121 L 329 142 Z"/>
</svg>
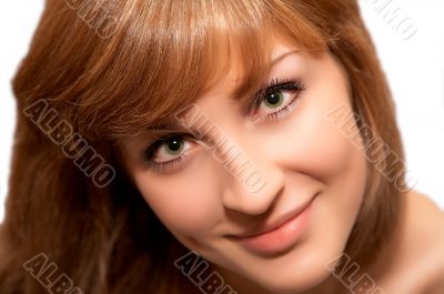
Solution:
<svg viewBox="0 0 444 294">
<path fill-rule="evenodd" d="M 327 111 L 331 109 L 316 105 L 303 110 L 279 132 L 273 141 L 285 142 L 280 145 L 280 160 L 324 183 L 365 178 L 364 150 L 325 116 Z"/>
</svg>

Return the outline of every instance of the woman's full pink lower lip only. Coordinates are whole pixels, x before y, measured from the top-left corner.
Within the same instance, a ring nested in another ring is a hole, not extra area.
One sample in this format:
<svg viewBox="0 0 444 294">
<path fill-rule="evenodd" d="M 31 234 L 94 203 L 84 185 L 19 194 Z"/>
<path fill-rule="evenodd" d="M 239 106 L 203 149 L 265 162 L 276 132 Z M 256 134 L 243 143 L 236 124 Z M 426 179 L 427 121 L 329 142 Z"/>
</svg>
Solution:
<svg viewBox="0 0 444 294">
<path fill-rule="evenodd" d="M 291 249 L 309 225 L 313 201 L 296 216 L 278 229 L 252 237 L 239 239 L 241 245 L 259 254 L 276 254 Z"/>
</svg>

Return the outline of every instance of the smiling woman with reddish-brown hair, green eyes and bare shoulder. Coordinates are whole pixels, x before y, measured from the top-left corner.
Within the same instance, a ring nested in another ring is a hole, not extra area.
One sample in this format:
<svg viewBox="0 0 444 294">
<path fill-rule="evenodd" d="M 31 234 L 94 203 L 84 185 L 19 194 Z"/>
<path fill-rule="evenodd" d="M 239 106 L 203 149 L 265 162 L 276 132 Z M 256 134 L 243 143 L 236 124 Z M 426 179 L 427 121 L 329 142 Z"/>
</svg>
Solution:
<svg viewBox="0 0 444 294">
<path fill-rule="evenodd" d="M 355 1 L 48 1 L 1 293 L 442 293 Z"/>
</svg>

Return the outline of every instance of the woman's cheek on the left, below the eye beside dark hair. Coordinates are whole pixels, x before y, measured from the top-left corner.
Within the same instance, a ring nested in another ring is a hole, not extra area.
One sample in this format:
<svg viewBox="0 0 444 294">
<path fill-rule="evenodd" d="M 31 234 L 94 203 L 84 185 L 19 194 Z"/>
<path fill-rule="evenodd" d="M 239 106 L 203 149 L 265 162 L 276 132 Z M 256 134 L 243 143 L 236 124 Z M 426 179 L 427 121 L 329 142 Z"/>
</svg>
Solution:
<svg viewBox="0 0 444 294">
<path fill-rule="evenodd" d="M 202 158 L 178 175 L 155 176 L 149 172 L 135 174 L 140 193 L 171 231 L 180 234 L 204 234 L 213 227 L 221 212 L 216 195 L 218 181 Z"/>
</svg>

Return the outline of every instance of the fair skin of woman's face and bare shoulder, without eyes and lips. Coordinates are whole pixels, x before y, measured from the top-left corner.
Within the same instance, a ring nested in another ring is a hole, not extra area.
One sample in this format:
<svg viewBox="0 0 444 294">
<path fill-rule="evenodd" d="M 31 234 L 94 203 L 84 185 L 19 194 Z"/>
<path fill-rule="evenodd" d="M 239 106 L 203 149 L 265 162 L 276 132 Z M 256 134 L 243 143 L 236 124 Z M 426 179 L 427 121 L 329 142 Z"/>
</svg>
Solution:
<svg viewBox="0 0 444 294">
<path fill-rule="evenodd" d="M 329 53 L 315 59 L 283 38 L 276 38 L 272 59 L 276 62 L 264 79 L 297 77 L 305 85 L 299 102 L 282 118 L 253 120 L 245 112 L 248 98 L 232 97 L 242 75 L 235 57 L 229 73 L 195 102 L 208 123 L 234 142 L 266 179 L 260 191 L 252 192 L 232 175 L 242 164 L 239 159 L 228 168 L 214 155 L 214 149 L 205 145 L 218 141 L 219 138 L 210 133 L 202 140 L 188 140 L 186 158 L 162 173 L 150 169 L 140 156 L 151 133 L 125 140 L 122 156 L 134 184 L 162 223 L 184 246 L 210 261 L 238 293 L 333 293 L 334 287 L 343 293 L 325 264 L 344 251 L 363 201 L 366 175 L 363 150 L 325 116 L 341 105 L 351 108 L 346 74 Z M 272 111 L 263 103 L 260 113 Z M 157 153 L 158 160 L 172 158 L 164 150 Z M 428 271 L 410 278 L 414 288 L 438 283 L 438 270 L 444 268 L 436 266 L 436 260 L 444 260 L 440 250 L 444 242 L 434 233 L 444 227 L 443 213 L 427 200 L 411 194 L 406 199 L 398 233 L 381 253 L 392 257 L 393 266 L 383 270 L 387 264 L 380 258 L 372 268 L 365 268 L 379 285 L 386 287 L 386 293 L 422 293 L 406 290 L 412 288 L 403 284 L 407 272 L 411 276 L 414 273 L 400 268 L 411 268 L 410 263 L 417 262 L 423 249 L 430 250 L 427 256 L 432 256 L 423 261 L 424 268 L 430 265 Z M 285 252 L 263 256 L 226 236 L 261 227 L 310 200 L 313 203 L 307 227 Z M 423 204 L 412 204 L 417 201 Z M 434 219 L 418 224 L 414 217 L 420 210 L 421 214 L 433 211 Z M 424 231 L 432 222 L 434 225 Z M 437 245 L 428 244 L 427 237 Z M 397 291 L 401 285 L 405 291 Z"/>
</svg>

